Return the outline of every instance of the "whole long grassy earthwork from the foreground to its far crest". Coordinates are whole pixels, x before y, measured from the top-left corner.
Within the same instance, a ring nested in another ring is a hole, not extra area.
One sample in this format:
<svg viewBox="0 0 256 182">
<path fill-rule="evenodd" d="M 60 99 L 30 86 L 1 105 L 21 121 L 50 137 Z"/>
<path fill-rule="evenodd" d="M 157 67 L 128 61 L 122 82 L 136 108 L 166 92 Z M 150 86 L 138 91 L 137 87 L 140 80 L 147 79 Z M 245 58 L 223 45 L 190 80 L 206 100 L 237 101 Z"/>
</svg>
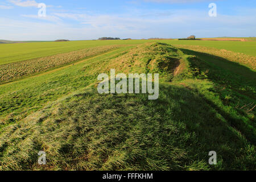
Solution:
<svg viewBox="0 0 256 182">
<path fill-rule="evenodd" d="M 224 71 L 230 65 L 146 44 L 1 85 L 2 116 L 16 114 L 2 121 L 0 169 L 254 169 L 255 111 L 242 106 L 256 102 L 255 72 L 241 75 L 241 65 Z M 159 99 L 97 94 L 96 77 L 110 68 L 159 72 Z M 36 164 L 40 150 L 47 152 L 44 167 Z M 208 165 L 211 150 L 217 166 Z"/>
</svg>

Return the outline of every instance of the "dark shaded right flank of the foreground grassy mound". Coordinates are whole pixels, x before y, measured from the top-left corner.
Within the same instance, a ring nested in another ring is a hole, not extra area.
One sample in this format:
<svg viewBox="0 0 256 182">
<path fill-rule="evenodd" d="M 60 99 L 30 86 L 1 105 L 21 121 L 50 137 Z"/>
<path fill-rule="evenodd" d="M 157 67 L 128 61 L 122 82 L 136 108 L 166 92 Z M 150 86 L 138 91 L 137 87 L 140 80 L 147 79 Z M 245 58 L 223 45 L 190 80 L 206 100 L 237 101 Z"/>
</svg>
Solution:
<svg viewBox="0 0 256 182">
<path fill-rule="evenodd" d="M 242 135 L 255 144 L 255 130 L 243 125 L 242 119 L 226 113 L 195 90 L 175 86 L 164 86 L 161 90 L 164 97 L 155 101 L 155 108 L 166 118 L 164 122 L 168 122 L 170 117 L 170 121 L 185 124 L 179 135 L 191 134 L 191 138 L 184 142 L 187 144 L 184 148 L 193 160 L 206 160 L 208 152 L 213 150 L 217 152 L 218 160 L 222 160 L 216 167 L 218 169 L 253 169 L 255 160 L 250 160 L 250 152 L 255 154 L 255 151 L 244 151 L 249 142 Z M 242 135 L 233 129 L 234 125 Z"/>
</svg>

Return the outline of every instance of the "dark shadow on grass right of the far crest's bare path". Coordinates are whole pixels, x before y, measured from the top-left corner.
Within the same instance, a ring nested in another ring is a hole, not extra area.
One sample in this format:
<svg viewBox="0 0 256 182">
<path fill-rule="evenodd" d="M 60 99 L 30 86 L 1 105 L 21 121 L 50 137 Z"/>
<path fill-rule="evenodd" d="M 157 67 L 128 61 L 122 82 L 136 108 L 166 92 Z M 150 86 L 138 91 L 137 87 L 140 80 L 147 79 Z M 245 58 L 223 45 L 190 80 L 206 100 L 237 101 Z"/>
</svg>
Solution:
<svg viewBox="0 0 256 182">
<path fill-rule="evenodd" d="M 191 67 L 199 68 L 201 72 L 207 72 L 210 81 L 256 100 L 256 72 L 238 63 L 208 53 L 188 49 L 181 49 L 181 51 L 199 58 L 189 60 Z"/>
</svg>

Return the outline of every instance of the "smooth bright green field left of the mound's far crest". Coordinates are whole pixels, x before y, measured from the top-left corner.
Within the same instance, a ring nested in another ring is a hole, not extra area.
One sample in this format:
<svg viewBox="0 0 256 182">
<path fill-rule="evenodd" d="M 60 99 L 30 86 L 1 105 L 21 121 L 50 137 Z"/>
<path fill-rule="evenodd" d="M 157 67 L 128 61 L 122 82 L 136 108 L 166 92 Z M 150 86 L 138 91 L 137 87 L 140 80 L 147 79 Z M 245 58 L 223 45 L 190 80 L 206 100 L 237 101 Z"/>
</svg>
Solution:
<svg viewBox="0 0 256 182">
<path fill-rule="evenodd" d="M 71 42 L 36 42 L 20 44 L 0 44 L 0 65 L 23 60 L 56 55 L 79 49 L 110 46 L 115 44 L 140 44 L 147 40 L 87 40 Z"/>
</svg>

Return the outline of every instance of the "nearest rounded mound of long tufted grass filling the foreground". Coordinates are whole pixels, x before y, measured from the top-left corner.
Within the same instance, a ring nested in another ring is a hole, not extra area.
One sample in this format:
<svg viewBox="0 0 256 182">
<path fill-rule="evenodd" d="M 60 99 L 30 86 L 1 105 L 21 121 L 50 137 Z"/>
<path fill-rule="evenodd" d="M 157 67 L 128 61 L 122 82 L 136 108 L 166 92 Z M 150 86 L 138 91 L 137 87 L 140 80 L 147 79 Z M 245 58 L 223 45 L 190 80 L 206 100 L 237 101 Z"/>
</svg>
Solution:
<svg viewBox="0 0 256 182">
<path fill-rule="evenodd" d="M 8 140 L 14 147 L 26 141 L 32 141 L 32 146 L 27 144 L 29 148 L 4 158 L 2 152 L 9 154 L 10 147 L 2 146 L 0 166 L 8 167 L 14 161 L 35 169 L 36 161 L 34 165 L 31 161 L 43 142 L 47 165 L 40 169 L 254 168 L 254 148 L 221 119 L 223 113 L 183 86 L 160 85 L 160 97 L 155 101 L 149 101 L 147 94 L 100 95 L 92 89 L 69 98 L 57 110 L 38 122 L 17 123 L 15 133 L 33 133 L 11 135 Z M 24 151 L 28 159 L 20 157 Z M 216 166 L 208 164 L 209 151 L 217 152 Z"/>
</svg>

